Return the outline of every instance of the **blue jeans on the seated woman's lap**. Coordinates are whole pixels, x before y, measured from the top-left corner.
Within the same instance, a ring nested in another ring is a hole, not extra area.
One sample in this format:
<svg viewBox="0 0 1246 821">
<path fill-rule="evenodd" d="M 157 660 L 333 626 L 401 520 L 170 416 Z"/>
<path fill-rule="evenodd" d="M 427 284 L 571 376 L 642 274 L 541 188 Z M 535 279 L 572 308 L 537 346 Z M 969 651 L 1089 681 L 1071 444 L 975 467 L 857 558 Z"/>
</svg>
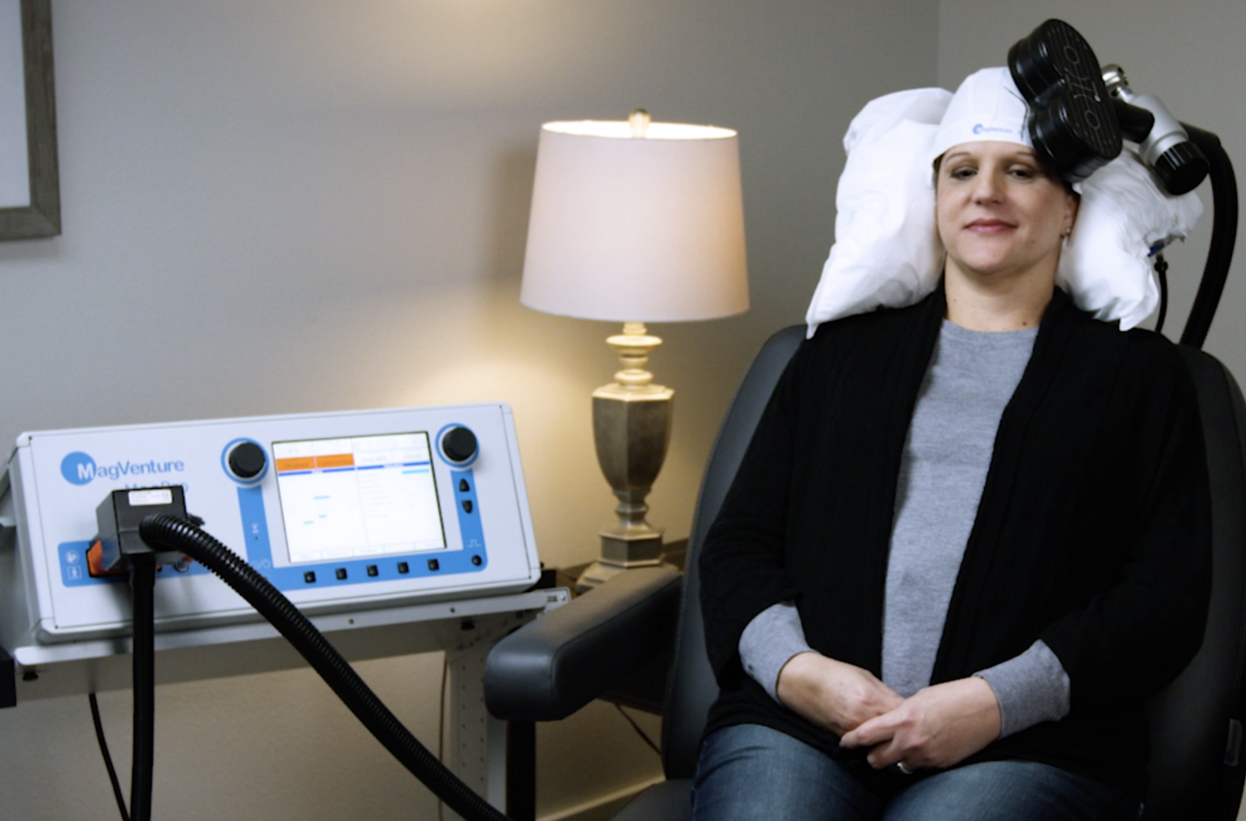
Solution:
<svg viewBox="0 0 1246 821">
<path fill-rule="evenodd" d="M 1035 761 L 987 761 L 925 777 L 849 770 L 779 730 L 724 728 L 701 744 L 693 820 L 1135 821 L 1141 811 L 1115 787 Z"/>
</svg>

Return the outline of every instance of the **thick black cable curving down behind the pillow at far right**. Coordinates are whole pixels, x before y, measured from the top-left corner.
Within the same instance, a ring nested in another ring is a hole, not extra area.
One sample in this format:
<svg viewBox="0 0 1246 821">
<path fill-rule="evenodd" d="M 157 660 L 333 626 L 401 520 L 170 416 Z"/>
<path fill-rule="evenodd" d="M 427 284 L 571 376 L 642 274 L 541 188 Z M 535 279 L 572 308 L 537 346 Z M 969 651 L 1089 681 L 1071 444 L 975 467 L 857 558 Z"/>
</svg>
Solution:
<svg viewBox="0 0 1246 821">
<path fill-rule="evenodd" d="M 1220 295 L 1229 278 L 1229 265 L 1232 263 L 1234 245 L 1237 242 L 1237 177 L 1234 174 L 1234 163 L 1220 145 L 1220 137 L 1186 123 L 1181 126 L 1190 135 L 1190 142 L 1199 146 L 1211 163 L 1209 174 L 1214 212 L 1211 247 L 1207 249 L 1207 264 L 1202 269 L 1202 279 L 1199 280 L 1199 293 L 1190 308 L 1185 330 L 1181 331 L 1182 345 L 1202 348 L 1216 308 L 1220 305 Z"/>
</svg>

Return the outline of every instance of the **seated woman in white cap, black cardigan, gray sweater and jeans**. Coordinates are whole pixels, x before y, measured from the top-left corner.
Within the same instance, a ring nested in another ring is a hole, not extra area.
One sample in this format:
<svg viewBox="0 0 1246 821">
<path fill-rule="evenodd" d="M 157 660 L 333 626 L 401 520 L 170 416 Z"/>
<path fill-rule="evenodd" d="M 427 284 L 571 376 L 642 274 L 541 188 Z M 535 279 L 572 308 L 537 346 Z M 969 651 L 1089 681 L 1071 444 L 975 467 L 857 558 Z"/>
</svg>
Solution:
<svg viewBox="0 0 1246 821">
<path fill-rule="evenodd" d="M 698 820 L 1138 817 L 1206 618 L 1202 434 L 1175 346 L 1057 288 L 1079 203 L 1024 117 L 962 85 L 941 285 L 819 326 L 758 426 L 700 559 Z"/>
</svg>

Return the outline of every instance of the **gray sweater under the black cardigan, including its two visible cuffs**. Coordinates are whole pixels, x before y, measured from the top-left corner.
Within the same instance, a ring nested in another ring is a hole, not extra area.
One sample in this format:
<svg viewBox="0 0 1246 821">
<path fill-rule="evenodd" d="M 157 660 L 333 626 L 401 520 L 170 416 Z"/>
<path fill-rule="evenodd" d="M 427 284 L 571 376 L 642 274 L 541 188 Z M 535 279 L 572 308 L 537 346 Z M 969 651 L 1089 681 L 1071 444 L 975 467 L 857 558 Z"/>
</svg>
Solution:
<svg viewBox="0 0 1246 821">
<path fill-rule="evenodd" d="M 883 604 L 882 679 L 902 696 L 930 684 L 999 419 L 1035 336 L 944 320 L 931 356 L 901 461 Z M 791 603 L 758 614 L 739 647 L 745 670 L 773 698 L 782 665 L 810 652 Z M 1043 642 L 978 675 L 999 700 L 1002 735 L 1068 714 L 1068 675 Z"/>
</svg>

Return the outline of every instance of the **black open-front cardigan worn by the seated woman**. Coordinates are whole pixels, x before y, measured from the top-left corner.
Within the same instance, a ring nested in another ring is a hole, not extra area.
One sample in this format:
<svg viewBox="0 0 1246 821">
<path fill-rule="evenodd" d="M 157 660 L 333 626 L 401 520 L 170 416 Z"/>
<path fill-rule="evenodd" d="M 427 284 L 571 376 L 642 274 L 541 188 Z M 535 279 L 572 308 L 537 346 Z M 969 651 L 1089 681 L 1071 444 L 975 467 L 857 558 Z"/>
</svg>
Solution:
<svg viewBox="0 0 1246 821">
<path fill-rule="evenodd" d="M 944 306 L 938 289 L 824 324 L 775 387 L 700 558 L 721 690 L 706 734 L 764 724 L 860 756 L 775 704 L 736 648 L 753 617 L 794 599 L 814 649 L 880 674 L 901 453 Z M 932 683 L 1043 639 L 1069 675 L 1070 713 L 968 761 L 1044 761 L 1145 792 L 1141 706 L 1202 640 L 1210 517 L 1176 348 L 1094 320 L 1057 290 L 999 422 Z"/>
</svg>

